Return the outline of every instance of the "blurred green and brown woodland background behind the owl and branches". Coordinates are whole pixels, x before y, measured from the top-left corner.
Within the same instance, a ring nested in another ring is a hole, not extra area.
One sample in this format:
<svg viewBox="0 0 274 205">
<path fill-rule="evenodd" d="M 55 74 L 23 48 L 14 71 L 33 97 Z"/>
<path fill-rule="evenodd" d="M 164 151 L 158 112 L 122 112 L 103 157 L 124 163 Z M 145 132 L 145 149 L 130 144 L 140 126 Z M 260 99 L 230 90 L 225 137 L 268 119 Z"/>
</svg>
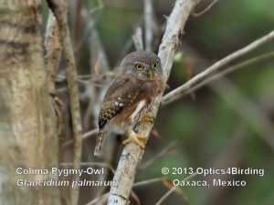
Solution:
<svg viewBox="0 0 274 205">
<path fill-rule="evenodd" d="M 70 1 L 68 19 L 78 65 L 84 132 L 97 128 L 97 116 L 105 88 L 111 83 L 121 58 L 134 50 L 132 34 L 136 27 L 141 26 L 145 33 L 144 2 Z M 210 3 L 202 1 L 196 13 L 203 11 Z M 153 1 L 151 47 L 155 53 L 158 52 L 163 36 L 166 16 L 173 7 L 174 1 Z M 219 0 L 205 14 L 190 17 L 184 27 L 185 34 L 178 46 L 177 58 L 165 92 L 183 85 L 219 59 L 267 35 L 274 27 L 273 7 L 273 0 Z M 163 178 L 163 167 L 264 169 L 263 177 L 195 176 L 194 180 L 245 180 L 247 185 L 178 187 L 163 204 L 273 204 L 273 47 L 274 42 L 270 41 L 227 67 L 271 52 L 272 57 L 259 58 L 257 62 L 241 67 L 191 95 L 160 108 L 135 182 Z M 61 68 L 58 75 L 64 75 Z M 63 82 L 57 82 L 58 94 L 67 102 L 63 87 Z M 69 125 L 67 106 L 68 103 L 62 111 L 64 121 Z M 65 132 L 64 142 L 72 138 L 69 126 L 66 126 Z M 121 138 L 108 138 L 101 159 L 93 158 L 94 146 L 95 136 L 84 139 L 82 161 L 106 162 L 116 169 L 122 149 Z M 70 147 L 64 148 L 61 161 L 70 161 L 71 152 Z M 152 205 L 172 188 L 173 179 L 184 179 L 187 176 L 170 172 L 165 176 L 167 179 L 136 187 L 133 191 L 142 205 Z M 84 176 L 83 179 L 88 177 Z M 112 179 L 111 172 L 105 178 Z M 106 191 L 81 188 L 79 204 L 87 204 Z M 131 198 L 131 204 L 137 202 Z"/>
</svg>

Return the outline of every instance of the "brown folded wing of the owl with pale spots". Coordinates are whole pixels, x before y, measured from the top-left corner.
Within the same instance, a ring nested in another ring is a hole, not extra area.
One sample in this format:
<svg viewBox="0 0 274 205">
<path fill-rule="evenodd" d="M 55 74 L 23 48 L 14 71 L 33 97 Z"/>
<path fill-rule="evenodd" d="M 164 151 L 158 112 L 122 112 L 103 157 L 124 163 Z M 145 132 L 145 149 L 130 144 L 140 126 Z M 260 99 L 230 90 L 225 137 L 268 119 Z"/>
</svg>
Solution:
<svg viewBox="0 0 274 205">
<path fill-rule="evenodd" d="M 99 115 L 99 128 L 130 106 L 140 92 L 139 83 L 129 77 L 116 77 L 108 88 Z"/>
</svg>

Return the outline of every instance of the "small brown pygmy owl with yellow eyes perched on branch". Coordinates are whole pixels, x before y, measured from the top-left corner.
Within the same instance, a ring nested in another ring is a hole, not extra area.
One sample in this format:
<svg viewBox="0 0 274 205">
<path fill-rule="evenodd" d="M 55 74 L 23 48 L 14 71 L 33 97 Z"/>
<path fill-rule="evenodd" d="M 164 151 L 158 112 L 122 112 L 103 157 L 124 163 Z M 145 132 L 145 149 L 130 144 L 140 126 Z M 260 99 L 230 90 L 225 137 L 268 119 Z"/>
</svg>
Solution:
<svg viewBox="0 0 274 205">
<path fill-rule="evenodd" d="M 99 135 L 94 155 L 109 132 L 126 134 L 123 144 L 133 141 L 144 149 L 133 128 L 144 117 L 154 98 L 163 91 L 163 69 L 159 56 L 149 51 L 135 51 L 121 61 L 117 76 L 108 88 L 100 108 Z"/>
</svg>

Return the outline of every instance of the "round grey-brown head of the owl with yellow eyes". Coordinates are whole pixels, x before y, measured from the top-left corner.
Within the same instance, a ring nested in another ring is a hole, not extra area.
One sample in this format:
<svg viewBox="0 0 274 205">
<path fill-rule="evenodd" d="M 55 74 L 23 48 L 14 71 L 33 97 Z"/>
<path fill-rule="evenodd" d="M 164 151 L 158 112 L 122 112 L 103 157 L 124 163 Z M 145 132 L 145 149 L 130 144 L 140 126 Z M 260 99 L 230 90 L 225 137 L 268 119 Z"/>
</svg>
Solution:
<svg viewBox="0 0 274 205">
<path fill-rule="evenodd" d="M 120 72 L 153 80 L 154 77 L 162 75 L 163 70 L 159 56 L 151 51 L 135 51 L 122 59 Z"/>
</svg>

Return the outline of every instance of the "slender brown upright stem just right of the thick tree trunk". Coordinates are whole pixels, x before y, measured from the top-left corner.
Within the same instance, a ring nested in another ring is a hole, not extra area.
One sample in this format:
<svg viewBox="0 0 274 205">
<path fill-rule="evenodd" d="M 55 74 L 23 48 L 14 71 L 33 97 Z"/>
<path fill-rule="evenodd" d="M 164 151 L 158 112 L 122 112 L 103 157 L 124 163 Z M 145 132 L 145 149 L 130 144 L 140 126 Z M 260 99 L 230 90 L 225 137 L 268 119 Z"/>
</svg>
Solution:
<svg viewBox="0 0 274 205">
<path fill-rule="evenodd" d="M 48 6 L 56 16 L 60 36 L 62 40 L 62 46 L 64 50 L 64 57 L 66 62 L 66 76 L 68 80 L 68 95 L 70 104 L 70 114 L 72 118 L 73 136 L 75 138 L 74 143 L 74 159 L 73 169 L 80 169 L 80 157 L 82 148 L 81 137 L 81 119 L 79 112 L 79 92 L 77 86 L 77 70 L 75 59 L 73 56 L 72 46 L 69 39 L 69 30 L 67 22 L 67 1 L 47 0 Z M 79 175 L 73 175 L 73 180 L 79 180 Z M 73 205 L 78 203 L 79 199 L 79 187 L 71 190 L 71 203 Z"/>
</svg>

